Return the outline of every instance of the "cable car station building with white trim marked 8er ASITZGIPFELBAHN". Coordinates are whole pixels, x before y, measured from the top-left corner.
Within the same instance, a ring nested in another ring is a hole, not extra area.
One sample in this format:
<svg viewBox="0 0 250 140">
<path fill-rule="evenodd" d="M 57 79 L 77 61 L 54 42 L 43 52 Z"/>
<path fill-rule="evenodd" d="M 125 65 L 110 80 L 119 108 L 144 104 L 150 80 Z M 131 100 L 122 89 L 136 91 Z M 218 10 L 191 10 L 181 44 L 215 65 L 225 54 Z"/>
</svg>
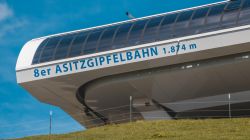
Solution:
<svg viewBox="0 0 250 140">
<path fill-rule="evenodd" d="M 129 121 L 130 96 L 134 120 L 249 115 L 250 0 L 36 38 L 16 76 L 85 127 Z"/>
</svg>

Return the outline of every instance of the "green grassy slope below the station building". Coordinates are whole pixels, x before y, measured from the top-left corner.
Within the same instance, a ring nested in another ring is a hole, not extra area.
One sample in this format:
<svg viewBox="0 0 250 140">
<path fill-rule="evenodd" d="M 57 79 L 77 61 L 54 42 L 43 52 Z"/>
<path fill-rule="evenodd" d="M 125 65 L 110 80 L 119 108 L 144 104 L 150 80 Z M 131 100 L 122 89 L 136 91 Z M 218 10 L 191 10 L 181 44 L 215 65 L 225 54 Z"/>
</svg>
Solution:
<svg viewBox="0 0 250 140">
<path fill-rule="evenodd" d="M 18 140 L 48 140 L 49 136 Z M 247 140 L 250 139 L 250 118 L 137 121 L 107 125 L 62 135 L 50 140 Z"/>
</svg>

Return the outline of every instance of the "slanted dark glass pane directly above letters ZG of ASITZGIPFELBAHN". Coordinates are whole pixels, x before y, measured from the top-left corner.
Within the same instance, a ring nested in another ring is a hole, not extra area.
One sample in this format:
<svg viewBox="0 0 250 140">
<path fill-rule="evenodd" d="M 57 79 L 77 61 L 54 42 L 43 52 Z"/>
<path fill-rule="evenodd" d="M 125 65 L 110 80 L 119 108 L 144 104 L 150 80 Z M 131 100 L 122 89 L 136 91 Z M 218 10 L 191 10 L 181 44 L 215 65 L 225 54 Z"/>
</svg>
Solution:
<svg viewBox="0 0 250 140">
<path fill-rule="evenodd" d="M 83 54 L 91 54 L 96 52 L 97 48 L 97 42 L 99 40 L 99 37 L 101 33 L 103 32 L 103 29 L 93 31 L 88 36 L 86 45 L 83 47 Z"/>
</svg>

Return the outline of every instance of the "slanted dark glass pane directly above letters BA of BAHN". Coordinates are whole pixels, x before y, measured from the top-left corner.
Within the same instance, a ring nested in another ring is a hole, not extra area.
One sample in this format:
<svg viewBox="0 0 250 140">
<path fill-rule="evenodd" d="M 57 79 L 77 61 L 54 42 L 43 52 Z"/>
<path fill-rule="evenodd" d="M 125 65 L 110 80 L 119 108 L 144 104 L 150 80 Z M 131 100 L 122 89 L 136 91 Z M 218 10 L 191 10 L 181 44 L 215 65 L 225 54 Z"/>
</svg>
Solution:
<svg viewBox="0 0 250 140">
<path fill-rule="evenodd" d="M 142 31 L 145 27 L 145 24 L 148 22 L 148 20 L 141 20 L 135 22 L 134 26 L 132 27 L 129 38 L 128 38 L 128 46 L 138 45 L 140 44 L 140 40 L 142 37 Z"/>
</svg>

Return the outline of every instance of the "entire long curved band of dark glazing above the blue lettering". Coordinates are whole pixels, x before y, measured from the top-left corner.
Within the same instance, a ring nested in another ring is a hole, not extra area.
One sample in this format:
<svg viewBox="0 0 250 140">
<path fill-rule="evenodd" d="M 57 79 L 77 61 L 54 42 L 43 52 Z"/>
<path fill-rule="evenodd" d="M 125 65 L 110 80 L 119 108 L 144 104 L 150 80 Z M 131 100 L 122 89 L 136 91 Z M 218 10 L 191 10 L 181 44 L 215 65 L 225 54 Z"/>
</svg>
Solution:
<svg viewBox="0 0 250 140">
<path fill-rule="evenodd" d="M 39 45 L 32 64 L 248 25 L 250 0 L 244 0 L 244 4 L 241 2 L 240 0 L 230 1 L 195 11 L 183 11 L 132 23 L 122 23 L 105 29 L 97 28 L 74 35 L 50 37 Z"/>
</svg>

